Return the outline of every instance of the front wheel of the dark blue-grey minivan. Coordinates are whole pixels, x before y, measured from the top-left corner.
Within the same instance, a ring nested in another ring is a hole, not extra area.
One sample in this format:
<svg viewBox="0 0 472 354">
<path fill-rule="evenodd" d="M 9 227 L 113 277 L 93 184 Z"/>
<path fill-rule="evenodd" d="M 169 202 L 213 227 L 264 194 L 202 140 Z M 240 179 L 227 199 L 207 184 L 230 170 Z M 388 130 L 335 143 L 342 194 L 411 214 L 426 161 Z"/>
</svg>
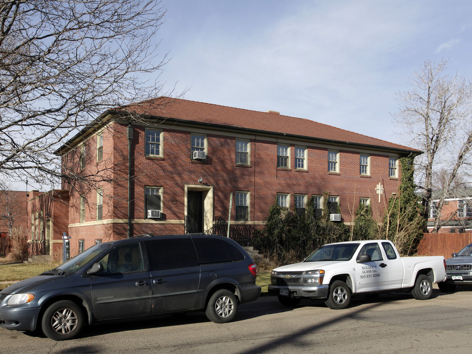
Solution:
<svg viewBox="0 0 472 354">
<path fill-rule="evenodd" d="M 72 301 L 58 301 L 46 309 L 41 326 L 44 334 L 51 339 L 72 339 L 77 337 L 84 327 L 84 312 Z"/>
</svg>

